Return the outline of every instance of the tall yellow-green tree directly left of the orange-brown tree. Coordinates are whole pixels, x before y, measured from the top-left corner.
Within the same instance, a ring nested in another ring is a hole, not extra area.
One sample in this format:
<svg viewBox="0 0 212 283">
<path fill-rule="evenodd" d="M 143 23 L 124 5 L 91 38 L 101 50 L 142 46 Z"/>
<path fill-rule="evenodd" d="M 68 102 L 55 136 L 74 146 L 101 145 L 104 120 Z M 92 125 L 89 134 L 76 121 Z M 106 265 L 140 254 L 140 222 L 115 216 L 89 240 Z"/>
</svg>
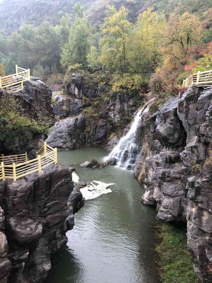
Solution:
<svg viewBox="0 0 212 283">
<path fill-rule="evenodd" d="M 127 40 L 127 60 L 132 73 L 141 73 L 143 80 L 157 68 L 161 61 L 161 45 L 166 25 L 164 16 L 153 8 L 140 14 L 135 28 Z"/>
</svg>

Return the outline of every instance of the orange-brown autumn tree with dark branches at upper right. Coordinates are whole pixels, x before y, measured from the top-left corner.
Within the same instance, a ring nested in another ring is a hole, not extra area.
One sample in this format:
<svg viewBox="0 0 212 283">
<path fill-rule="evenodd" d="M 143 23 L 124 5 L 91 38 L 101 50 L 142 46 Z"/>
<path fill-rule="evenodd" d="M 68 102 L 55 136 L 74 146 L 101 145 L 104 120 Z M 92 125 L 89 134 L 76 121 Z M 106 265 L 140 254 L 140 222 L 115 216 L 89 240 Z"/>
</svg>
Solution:
<svg viewBox="0 0 212 283">
<path fill-rule="evenodd" d="M 191 45 L 200 42 L 203 28 L 200 20 L 188 12 L 181 16 L 170 15 L 165 29 L 164 55 L 176 67 L 185 65 Z"/>
</svg>

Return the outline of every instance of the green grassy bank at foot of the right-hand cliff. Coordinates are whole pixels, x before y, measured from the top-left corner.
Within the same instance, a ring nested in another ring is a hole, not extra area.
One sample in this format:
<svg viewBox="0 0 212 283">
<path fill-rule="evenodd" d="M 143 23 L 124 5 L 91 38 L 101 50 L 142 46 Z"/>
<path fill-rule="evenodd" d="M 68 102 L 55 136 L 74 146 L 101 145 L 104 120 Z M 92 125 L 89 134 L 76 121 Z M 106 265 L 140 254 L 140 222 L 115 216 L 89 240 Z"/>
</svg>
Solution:
<svg viewBox="0 0 212 283">
<path fill-rule="evenodd" d="M 186 230 L 156 221 L 156 254 L 162 283 L 198 283 L 186 246 Z"/>
</svg>

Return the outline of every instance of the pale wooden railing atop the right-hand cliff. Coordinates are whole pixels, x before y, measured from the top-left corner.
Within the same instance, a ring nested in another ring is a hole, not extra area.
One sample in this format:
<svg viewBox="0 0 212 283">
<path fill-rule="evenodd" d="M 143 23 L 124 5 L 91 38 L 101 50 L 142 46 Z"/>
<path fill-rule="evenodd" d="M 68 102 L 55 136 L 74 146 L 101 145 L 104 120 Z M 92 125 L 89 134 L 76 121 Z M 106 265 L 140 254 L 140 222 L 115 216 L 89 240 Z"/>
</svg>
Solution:
<svg viewBox="0 0 212 283">
<path fill-rule="evenodd" d="M 184 79 L 183 87 L 189 86 L 212 86 L 212 70 L 192 74 L 189 78 Z"/>
</svg>

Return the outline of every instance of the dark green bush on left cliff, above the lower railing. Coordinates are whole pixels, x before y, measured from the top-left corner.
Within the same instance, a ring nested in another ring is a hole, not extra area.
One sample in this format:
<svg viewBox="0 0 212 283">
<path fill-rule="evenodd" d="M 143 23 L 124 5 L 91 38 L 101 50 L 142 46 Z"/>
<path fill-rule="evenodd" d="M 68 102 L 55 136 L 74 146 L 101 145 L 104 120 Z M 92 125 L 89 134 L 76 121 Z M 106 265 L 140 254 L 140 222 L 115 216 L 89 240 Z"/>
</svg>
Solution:
<svg viewBox="0 0 212 283">
<path fill-rule="evenodd" d="M 22 114 L 20 105 L 13 97 L 0 97 L 0 152 L 23 153 L 35 133 L 46 134 L 48 118 L 34 118 Z"/>
</svg>

